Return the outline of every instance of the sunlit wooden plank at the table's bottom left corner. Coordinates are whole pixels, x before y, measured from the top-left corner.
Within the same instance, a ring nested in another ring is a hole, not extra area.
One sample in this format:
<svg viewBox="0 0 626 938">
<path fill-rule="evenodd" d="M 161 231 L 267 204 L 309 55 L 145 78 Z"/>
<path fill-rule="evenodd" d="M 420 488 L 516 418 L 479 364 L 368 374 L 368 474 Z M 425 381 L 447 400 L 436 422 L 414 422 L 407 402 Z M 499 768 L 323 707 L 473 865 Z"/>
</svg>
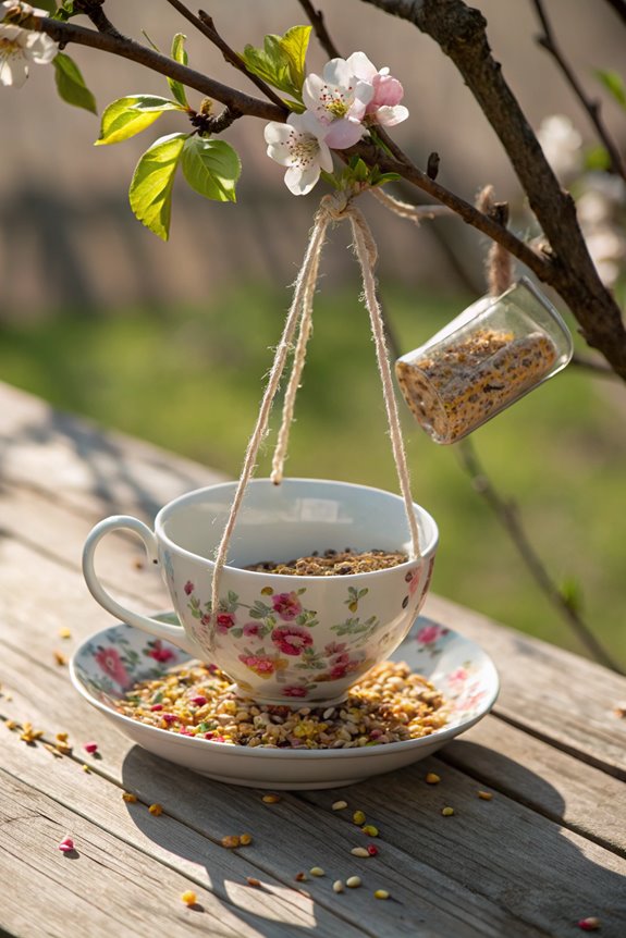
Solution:
<svg viewBox="0 0 626 938">
<path fill-rule="evenodd" d="M 0 788 L 0 875 L 11 884 L 2 890 L 0 925 L 11 935 L 145 938 L 156 918 L 159 930 L 181 938 L 194 926 L 223 938 L 286 938 L 300 930 L 217 897 L 1 769 Z M 76 851 L 66 855 L 58 844 L 69 834 Z M 181 902 L 189 888 L 197 910 Z"/>
</svg>

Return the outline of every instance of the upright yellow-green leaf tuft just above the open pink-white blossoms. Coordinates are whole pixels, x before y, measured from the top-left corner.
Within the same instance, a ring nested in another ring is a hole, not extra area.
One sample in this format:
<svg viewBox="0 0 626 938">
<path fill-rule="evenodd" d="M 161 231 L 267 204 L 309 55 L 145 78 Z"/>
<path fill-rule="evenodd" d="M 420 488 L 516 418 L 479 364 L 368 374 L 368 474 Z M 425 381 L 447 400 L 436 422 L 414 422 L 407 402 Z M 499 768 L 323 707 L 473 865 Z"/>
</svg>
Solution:
<svg viewBox="0 0 626 938">
<path fill-rule="evenodd" d="M 310 26 L 294 26 L 284 36 L 270 33 L 262 49 L 248 45 L 241 58 L 254 75 L 299 101 L 309 36 Z"/>
</svg>

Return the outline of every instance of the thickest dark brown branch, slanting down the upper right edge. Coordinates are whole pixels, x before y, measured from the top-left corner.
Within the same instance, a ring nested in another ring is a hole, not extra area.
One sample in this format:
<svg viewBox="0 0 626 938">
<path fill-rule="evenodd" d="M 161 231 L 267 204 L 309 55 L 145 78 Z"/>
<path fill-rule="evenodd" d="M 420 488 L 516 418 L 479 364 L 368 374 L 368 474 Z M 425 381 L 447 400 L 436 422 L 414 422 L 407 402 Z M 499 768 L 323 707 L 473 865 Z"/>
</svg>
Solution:
<svg viewBox="0 0 626 938">
<path fill-rule="evenodd" d="M 469 8 L 463 0 L 361 2 L 408 20 L 452 59 L 500 137 L 530 208 L 550 242 L 551 261 L 542 268 L 543 275 L 535 272 L 565 300 L 588 345 L 598 348 L 626 381 L 626 329 L 619 307 L 598 276 L 578 226 L 574 200 L 561 188 L 502 75 L 500 63 L 491 54 L 487 23 L 480 11 Z M 410 178 L 408 172 L 403 175 Z M 415 178 L 410 181 L 419 184 Z M 501 237 L 496 240 L 519 257 Z"/>
</svg>

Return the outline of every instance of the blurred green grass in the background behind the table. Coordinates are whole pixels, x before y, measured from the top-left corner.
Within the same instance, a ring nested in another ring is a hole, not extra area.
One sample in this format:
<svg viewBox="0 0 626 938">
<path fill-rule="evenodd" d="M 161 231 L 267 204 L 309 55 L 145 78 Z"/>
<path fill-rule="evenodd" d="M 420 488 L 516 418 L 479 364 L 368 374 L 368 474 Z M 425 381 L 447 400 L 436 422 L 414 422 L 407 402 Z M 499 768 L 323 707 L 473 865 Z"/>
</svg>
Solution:
<svg viewBox="0 0 626 938">
<path fill-rule="evenodd" d="M 470 298 L 386 289 L 403 350 Z M 0 325 L 0 377 L 50 403 L 233 476 L 241 467 L 289 307 L 286 289 L 240 285 L 206 308 L 79 311 Z M 622 406 L 622 411 L 619 411 Z M 569 367 L 478 430 L 474 443 L 515 499 L 557 583 L 574 584 L 598 638 L 626 664 L 623 628 L 624 392 Z M 584 653 L 474 491 L 455 447 L 432 443 L 402 406 L 413 491 L 437 518 L 433 589 L 525 632 Z M 274 408 L 275 430 L 280 408 Z M 322 289 L 286 471 L 397 490 L 366 309 Z M 270 435 L 258 473 L 268 472 Z"/>
</svg>

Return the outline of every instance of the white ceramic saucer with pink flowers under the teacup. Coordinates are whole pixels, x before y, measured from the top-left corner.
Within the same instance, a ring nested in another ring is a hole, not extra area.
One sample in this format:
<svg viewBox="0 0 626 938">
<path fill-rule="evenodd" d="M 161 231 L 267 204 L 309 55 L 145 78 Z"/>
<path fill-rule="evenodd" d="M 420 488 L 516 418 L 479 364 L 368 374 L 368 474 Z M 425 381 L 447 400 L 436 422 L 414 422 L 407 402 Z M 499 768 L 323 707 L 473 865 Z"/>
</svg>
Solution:
<svg viewBox="0 0 626 938">
<path fill-rule="evenodd" d="M 158 618 L 176 621 L 173 613 L 161 613 Z M 123 716 L 116 712 L 115 701 L 135 681 L 158 677 L 189 661 L 186 652 L 132 626 L 120 624 L 87 639 L 72 656 L 70 674 L 90 704 L 155 755 L 232 785 L 314 789 L 353 785 L 431 755 L 478 723 L 498 696 L 498 672 L 489 655 L 431 619 L 418 618 L 392 658 L 406 662 L 431 680 L 452 701 L 451 717 L 431 736 L 363 749 L 247 749 L 180 736 Z"/>
</svg>

